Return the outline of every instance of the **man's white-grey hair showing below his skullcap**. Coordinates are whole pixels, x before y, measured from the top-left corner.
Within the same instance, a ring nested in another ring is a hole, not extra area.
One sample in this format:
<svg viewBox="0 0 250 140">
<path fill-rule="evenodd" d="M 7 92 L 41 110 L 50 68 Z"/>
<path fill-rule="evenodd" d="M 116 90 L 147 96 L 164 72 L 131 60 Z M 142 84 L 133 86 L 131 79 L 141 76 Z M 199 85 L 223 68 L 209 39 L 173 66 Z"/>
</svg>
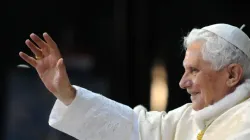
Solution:
<svg viewBox="0 0 250 140">
<path fill-rule="evenodd" d="M 201 49 L 203 59 L 210 62 L 214 70 L 218 71 L 229 64 L 237 63 L 243 68 L 243 78 L 250 78 L 250 60 L 236 46 L 212 32 L 194 28 L 184 37 L 184 48 L 187 49 L 196 41 L 204 41 Z"/>
</svg>

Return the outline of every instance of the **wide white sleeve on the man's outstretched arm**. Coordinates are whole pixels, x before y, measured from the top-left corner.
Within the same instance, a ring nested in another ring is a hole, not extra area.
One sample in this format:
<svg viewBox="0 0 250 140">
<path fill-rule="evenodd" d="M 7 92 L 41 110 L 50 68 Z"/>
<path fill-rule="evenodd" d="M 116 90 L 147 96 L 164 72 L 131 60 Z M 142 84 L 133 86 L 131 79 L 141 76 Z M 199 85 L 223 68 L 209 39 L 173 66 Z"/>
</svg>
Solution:
<svg viewBox="0 0 250 140">
<path fill-rule="evenodd" d="M 84 88 L 65 106 L 56 100 L 49 125 L 80 140 L 139 140 L 138 116 L 130 107 Z"/>
</svg>

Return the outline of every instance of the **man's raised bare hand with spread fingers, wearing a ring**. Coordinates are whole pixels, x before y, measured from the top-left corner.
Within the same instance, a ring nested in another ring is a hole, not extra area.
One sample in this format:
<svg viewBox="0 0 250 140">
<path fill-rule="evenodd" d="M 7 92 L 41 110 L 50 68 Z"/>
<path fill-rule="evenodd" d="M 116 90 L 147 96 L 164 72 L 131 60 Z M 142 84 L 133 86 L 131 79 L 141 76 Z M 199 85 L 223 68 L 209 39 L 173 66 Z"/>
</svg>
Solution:
<svg viewBox="0 0 250 140">
<path fill-rule="evenodd" d="M 33 66 L 46 88 L 53 93 L 65 105 L 69 105 L 75 98 L 75 89 L 68 78 L 63 59 L 57 44 L 47 34 L 43 34 L 44 40 L 32 33 L 25 44 L 33 52 L 34 57 L 20 52 L 20 57 Z"/>
</svg>

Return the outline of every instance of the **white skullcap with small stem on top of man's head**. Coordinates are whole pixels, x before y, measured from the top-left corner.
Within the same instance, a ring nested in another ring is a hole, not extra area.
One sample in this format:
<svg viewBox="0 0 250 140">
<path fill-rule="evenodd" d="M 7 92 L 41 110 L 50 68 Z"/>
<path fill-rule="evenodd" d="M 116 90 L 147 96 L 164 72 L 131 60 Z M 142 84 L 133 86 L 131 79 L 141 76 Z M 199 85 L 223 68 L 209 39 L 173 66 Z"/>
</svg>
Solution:
<svg viewBox="0 0 250 140">
<path fill-rule="evenodd" d="M 244 52 L 248 58 L 250 58 L 250 39 L 249 37 L 241 30 L 245 25 L 241 28 L 229 25 L 229 24 L 213 24 L 202 29 L 210 31 L 219 37 L 225 39 L 230 42 L 237 48 L 239 48 L 242 52 Z"/>
</svg>

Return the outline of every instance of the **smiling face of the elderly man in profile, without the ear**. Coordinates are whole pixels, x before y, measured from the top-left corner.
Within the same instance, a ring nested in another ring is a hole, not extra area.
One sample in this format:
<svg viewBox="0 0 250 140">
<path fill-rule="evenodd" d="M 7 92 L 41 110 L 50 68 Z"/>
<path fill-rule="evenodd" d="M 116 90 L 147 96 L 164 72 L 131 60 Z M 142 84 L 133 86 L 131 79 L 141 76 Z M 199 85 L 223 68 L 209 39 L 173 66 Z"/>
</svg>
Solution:
<svg viewBox="0 0 250 140">
<path fill-rule="evenodd" d="M 185 73 L 179 83 L 191 95 L 192 107 L 196 111 L 222 99 L 228 91 L 227 70 L 213 70 L 211 63 L 203 60 L 202 45 L 196 42 L 187 48 L 183 61 Z"/>
</svg>

